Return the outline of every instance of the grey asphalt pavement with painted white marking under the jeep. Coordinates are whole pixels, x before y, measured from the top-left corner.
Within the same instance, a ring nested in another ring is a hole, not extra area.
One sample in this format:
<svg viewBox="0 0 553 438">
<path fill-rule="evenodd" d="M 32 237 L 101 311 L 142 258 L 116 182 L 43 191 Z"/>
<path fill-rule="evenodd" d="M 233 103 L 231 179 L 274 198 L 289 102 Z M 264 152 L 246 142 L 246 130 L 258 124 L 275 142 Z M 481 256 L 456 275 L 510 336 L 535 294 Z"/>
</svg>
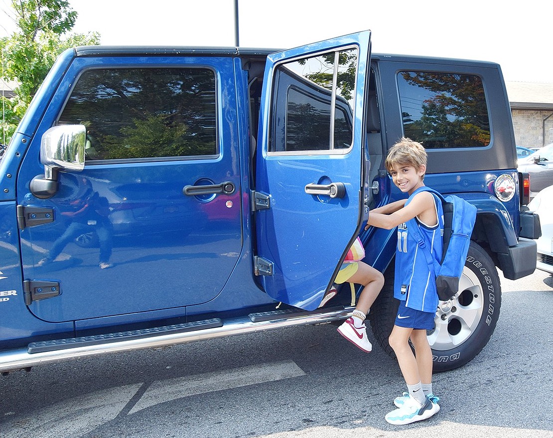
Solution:
<svg viewBox="0 0 553 438">
<path fill-rule="evenodd" d="M 0 437 L 551 438 L 553 277 L 502 278 L 502 290 L 488 345 L 435 374 L 441 410 L 420 423 L 384 420 L 405 389 L 397 362 L 320 325 L 10 373 Z"/>
</svg>

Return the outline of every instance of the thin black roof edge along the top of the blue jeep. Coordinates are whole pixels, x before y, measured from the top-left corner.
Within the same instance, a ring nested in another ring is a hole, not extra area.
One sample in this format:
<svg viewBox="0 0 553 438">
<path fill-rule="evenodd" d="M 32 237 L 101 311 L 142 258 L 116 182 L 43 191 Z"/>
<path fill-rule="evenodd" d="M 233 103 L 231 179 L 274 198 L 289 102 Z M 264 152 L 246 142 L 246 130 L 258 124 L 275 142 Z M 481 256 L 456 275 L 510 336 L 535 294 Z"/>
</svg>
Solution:
<svg viewBox="0 0 553 438">
<path fill-rule="evenodd" d="M 201 55 L 201 56 L 267 56 L 283 49 L 249 48 L 249 47 L 209 47 L 209 46 L 80 46 L 75 48 L 77 56 L 136 56 L 136 55 Z M 458 58 L 441 58 L 437 56 L 399 55 L 373 53 L 371 58 L 379 61 L 409 61 L 425 64 L 447 62 L 448 64 L 478 64 L 496 67 L 492 61 L 478 61 Z"/>
</svg>

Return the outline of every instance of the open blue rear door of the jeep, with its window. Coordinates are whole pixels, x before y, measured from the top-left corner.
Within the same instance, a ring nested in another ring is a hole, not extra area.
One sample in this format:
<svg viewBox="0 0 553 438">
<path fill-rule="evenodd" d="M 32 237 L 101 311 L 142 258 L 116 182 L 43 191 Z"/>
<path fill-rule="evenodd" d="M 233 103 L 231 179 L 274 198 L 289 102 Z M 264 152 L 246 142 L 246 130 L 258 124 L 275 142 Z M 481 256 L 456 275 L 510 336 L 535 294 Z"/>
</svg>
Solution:
<svg viewBox="0 0 553 438">
<path fill-rule="evenodd" d="M 320 304 L 364 211 L 369 31 L 267 59 L 255 169 L 255 273 L 272 298 Z"/>
</svg>

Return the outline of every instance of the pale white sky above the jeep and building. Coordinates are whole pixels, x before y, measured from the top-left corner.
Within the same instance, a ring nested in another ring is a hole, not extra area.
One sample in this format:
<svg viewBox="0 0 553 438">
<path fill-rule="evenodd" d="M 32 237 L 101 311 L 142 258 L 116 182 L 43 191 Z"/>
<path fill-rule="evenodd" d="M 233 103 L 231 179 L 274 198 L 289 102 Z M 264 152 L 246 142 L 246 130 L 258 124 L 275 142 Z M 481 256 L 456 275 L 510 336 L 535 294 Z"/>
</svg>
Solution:
<svg viewBox="0 0 553 438">
<path fill-rule="evenodd" d="M 69 3 L 79 14 L 73 32 L 99 32 L 103 45 L 235 45 L 234 0 Z M 551 17 L 543 0 L 238 0 L 242 47 L 287 49 L 369 29 L 373 53 L 493 61 L 505 80 L 523 82 L 553 83 Z M 1 13 L 0 37 L 10 24 Z"/>
</svg>

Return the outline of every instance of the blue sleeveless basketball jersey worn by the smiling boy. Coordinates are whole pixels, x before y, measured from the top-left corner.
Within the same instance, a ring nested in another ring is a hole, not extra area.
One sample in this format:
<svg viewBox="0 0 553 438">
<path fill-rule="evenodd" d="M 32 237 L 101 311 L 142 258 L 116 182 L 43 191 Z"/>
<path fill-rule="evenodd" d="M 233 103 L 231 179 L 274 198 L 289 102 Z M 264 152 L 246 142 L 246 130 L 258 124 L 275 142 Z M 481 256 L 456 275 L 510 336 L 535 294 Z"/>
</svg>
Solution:
<svg viewBox="0 0 553 438">
<path fill-rule="evenodd" d="M 418 191 L 413 192 L 405 205 Z M 441 200 L 434 197 L 438 223 L 431 227 L 416 219 L 419 232 L 426 246 L 438 262 L 444 249 L 444 211 Z M 394 298 L 405 301 L 405 306 L 423 312 L 435 312 L 439 303 L 436 293 L 436 276 L 428 267 L 425 255 L 415 238 L 410 235 L 406 223 L 398 226 L 398 246 L 395 251 Z"/>
</svg>

